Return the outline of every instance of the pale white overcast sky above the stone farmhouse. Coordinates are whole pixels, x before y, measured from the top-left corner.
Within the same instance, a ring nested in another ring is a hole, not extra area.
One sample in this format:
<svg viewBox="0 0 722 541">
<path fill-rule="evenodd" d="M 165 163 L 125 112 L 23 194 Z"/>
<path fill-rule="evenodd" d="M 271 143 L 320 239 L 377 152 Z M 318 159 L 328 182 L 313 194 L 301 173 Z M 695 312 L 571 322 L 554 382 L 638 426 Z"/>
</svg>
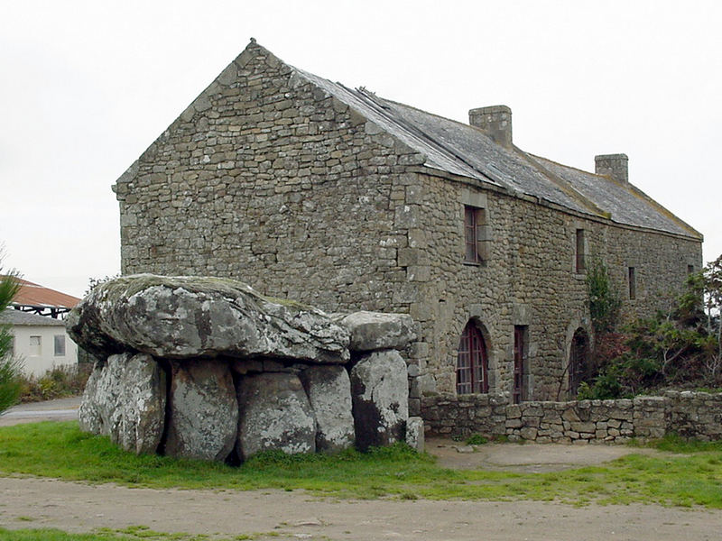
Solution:
<svg viewBox="0 0 722 541">
<path fill-rule="evenodd" d="M 722 3 L 0 0 L 5 268 L 80 296 L 120 270 L 110 187 L 251 37 L 348 87 L 630 181 L 722 253 Z"/>
</svg>

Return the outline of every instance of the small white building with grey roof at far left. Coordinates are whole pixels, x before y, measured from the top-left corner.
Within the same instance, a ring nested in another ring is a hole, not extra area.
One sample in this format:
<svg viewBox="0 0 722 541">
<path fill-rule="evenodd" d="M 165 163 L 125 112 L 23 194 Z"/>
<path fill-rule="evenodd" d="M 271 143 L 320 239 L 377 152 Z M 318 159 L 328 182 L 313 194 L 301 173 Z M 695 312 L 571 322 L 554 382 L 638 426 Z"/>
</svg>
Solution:
<svg viewBox="0 0 722 541">
<path fill-rule="evenodd" d="M 7 309 L 0 323 L 10 325 L 13 355 L 23 362 L 25 375 L 42 376 L 56 366 L 78 363 L 78 346 L 65 332 L 65 322 Z"/>
</svg>

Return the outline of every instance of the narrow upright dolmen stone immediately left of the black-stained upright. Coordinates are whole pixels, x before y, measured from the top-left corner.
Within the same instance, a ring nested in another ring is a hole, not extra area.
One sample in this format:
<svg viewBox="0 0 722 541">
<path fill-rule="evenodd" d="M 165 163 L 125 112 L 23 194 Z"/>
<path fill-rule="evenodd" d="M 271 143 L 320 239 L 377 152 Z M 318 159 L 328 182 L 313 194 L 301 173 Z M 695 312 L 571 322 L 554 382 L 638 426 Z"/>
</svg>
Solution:
<svg viewBox="0 0 722 541">
<path fill-rule="evenodd" d="M 316 450 L 341 451 L 354 445 L 351 382 L 342 366 L 311 366 L 301 381 L 316 416 Z"/>
</svg>

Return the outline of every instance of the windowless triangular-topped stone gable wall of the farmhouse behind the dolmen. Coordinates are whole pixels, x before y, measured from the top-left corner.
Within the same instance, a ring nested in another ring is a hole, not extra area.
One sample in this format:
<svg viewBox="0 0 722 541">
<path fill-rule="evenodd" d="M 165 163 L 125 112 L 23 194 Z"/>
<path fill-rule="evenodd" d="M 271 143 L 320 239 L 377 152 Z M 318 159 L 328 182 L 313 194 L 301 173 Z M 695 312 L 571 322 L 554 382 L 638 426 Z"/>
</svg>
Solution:
<svg viewBox="0 0 722 541">
<path fill-rule="evenodd" d="M 420 160 L 252 44 L 118 179 L 122 271 L 407 313 L 400 208 Z"/>
</svg>

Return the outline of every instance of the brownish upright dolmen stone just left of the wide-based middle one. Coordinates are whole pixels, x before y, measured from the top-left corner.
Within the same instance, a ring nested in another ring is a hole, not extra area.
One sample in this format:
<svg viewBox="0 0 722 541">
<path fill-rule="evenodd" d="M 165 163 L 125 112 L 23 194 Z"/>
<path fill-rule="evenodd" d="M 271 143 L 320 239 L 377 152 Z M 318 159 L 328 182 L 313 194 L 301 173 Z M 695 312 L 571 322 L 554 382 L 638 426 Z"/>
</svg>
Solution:
<svg viewBox="0 0 722 541">
<path fill-rule="evenodd" d="M 238 402 L 227 362 L 172 362 L 171 417 L 165 453 L 226 460 L 236 442 Z"/>
</svg>

